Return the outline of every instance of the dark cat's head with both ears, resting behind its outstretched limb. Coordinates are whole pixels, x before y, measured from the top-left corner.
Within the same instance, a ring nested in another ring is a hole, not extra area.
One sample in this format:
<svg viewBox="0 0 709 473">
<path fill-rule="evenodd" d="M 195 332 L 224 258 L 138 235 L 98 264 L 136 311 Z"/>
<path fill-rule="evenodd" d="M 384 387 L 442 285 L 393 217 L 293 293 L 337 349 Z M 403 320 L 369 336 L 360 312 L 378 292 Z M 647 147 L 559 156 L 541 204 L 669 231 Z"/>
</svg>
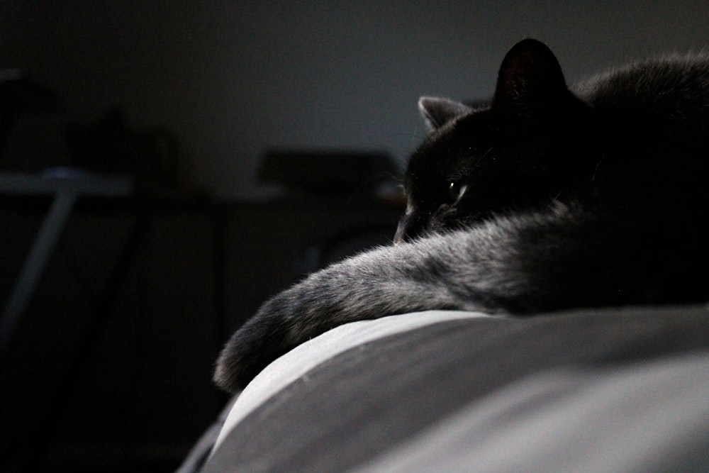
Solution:
<svg viewBox="0 0 709 473">
<path fill-rule="evenodd" d="M 549 205 L 592 176 L 591 108 L 537 40 L 508 52 L 490 104 L 424 97 L 418 105 L 429 135 L 408 162 L 395 242 Z"/>
</svg>

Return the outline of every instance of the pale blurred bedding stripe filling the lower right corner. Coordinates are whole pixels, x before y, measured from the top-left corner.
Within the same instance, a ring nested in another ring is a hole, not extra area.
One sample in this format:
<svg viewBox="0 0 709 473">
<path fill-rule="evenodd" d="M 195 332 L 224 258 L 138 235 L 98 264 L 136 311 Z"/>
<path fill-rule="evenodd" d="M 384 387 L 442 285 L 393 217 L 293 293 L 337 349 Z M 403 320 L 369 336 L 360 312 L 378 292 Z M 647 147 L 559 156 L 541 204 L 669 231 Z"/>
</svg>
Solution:
<svg viewBox="0 0 709 473">
<path fill-rule="evenodd" d="M 709 354 L 535 374 L 354 471 L 708 472 Z"/>
</svg>

